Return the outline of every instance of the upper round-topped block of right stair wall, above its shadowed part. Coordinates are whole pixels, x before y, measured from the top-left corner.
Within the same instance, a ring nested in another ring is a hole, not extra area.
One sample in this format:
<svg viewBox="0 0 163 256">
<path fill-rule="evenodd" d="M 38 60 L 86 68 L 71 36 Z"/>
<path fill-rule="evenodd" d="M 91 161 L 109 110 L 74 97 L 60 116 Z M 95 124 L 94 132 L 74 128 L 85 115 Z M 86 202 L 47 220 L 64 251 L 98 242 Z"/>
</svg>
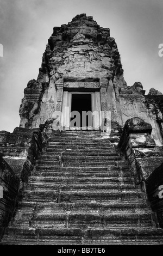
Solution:
<svg viewBox="0 0 163 256">
<path fill-rule="evenodd" d="M 162 150 L 156 147 L 151 133 L 151 124 L 141 118 L 131 118 L 126 121 L 118 143 L 118 148 L 130 165 L 136 184 L 145 181 L 163 162 Z"/>
</svg>

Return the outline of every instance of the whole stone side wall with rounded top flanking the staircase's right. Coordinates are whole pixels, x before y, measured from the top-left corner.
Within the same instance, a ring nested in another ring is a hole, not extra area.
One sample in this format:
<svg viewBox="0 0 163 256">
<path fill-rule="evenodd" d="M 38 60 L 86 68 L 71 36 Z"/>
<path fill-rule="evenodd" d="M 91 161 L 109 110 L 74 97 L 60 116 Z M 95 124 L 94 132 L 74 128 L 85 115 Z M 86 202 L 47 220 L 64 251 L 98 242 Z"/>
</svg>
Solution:
<svg viewBox="0 0 163 256">
<path fill-rule="evenodd" d="M 140 118 L 131 118 L 124 125 L 118 148 L 130 166 L 135 184 L 140 184 L 142 191 L 146 192 L 163 228 L 163 153 L 156 147 L 151 132 L 151 124 Z"/>
</svg>

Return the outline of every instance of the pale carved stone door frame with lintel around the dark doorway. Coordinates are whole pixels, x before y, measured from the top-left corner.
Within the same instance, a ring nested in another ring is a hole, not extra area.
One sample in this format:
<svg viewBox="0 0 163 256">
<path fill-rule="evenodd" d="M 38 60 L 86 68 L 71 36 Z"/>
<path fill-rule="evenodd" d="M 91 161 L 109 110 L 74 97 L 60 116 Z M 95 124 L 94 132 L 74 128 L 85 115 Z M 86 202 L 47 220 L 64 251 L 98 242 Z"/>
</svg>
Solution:
<svg viewBox="0 0 163 256">
<path fill-rule="evenodd" d="M 64 107 L 70 106 L 72 93 L 92 94 L 94 95 L 92 96 L 92 112 L 99 109 L 104 113 L 108 111 L 108 102 L 106 98 L 106 89 L 108 87 L 107 78 L 101 78 L 98 79 L 98 81 L 67 81 L 64 80 L 64 78 L 60 78 L 55 82 L 55 86 L 57 88 L 57 102 L 55 105 L 55 111 L 57 113 L 56 115 L 58 115 L 58 120 L 60 120 L 61 126 L 65 124 L 64 126 L 68 130 L 70 128 L 70 121 L 68 119 L 70 113 L 66 113 L 66 122 L 63 122 L 62 115 L 60 113 Z M 84 89 L 84 92 L 82 92 L 81 89 Z M 86 92 L 87 89 L 88 92 Z M 97 109 L 96 106 L 98 106 L 99 109 Z M 95 119 L 98 120 L 98 118 L 101 119 L 101 117 L 98 117 L 97 114 Z M 96 123 L 98 123 L 98 121 L 95 121 L 94 125 L 96 125 Z"/>
</svg>

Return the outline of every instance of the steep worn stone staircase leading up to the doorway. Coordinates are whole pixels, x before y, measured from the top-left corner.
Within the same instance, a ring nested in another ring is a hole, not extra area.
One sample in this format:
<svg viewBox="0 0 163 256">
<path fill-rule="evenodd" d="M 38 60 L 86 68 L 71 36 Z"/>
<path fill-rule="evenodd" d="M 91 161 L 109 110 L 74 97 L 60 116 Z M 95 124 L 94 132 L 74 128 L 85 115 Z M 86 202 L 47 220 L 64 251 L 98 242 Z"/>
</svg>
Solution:
<svg viewBox="0 0 163 256">
<path fill-rule="evenodd" d="M 3 245 L 158 245 L 163 231 L 100 131 L 49 137 Z"/>
</svg>

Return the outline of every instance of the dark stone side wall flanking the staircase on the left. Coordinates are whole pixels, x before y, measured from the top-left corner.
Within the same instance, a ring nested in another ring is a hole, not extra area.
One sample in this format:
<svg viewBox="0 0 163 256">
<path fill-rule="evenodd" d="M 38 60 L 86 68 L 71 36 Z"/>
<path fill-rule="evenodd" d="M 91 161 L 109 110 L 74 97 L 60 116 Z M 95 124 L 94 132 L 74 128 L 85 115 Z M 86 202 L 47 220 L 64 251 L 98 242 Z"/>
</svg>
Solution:
<svg viewBox="0 0 163 256">
<path fill-rule="evenodd" d="M 0 132 L 0 240 L 47 141 L 43 129 L 16 127 L 13 133 Z"/>
</svg>

